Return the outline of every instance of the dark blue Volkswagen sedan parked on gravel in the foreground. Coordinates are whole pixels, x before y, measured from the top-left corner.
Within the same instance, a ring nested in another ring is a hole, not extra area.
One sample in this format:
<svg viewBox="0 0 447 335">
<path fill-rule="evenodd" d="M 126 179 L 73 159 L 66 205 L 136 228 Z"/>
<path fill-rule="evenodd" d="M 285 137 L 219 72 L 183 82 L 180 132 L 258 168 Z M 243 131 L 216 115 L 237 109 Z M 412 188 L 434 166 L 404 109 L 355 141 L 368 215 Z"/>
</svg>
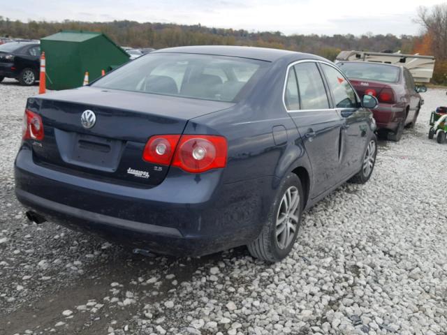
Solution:
<svg viewBox="0 0 447 335">
<path fill-rule="evenodd" d="M 312 54 L 158 50 L 29 98 L 15 191 L 31 221 L 140 251 L 278 261 L 302 211 L 371 176 L 376 103 Z"/>
</svg>

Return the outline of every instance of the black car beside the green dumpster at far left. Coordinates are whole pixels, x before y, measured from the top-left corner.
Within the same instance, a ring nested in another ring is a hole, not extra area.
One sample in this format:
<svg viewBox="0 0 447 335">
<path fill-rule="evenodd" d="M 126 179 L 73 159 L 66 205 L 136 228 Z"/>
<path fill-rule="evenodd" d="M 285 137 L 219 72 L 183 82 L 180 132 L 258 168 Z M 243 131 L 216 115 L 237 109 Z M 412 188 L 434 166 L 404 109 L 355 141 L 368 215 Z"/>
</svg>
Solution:
<svg viewBox="0 0 447 335">
<path fill-rule="evenodd" d="M 38 81 L 41 46 L 38 43 L 10 42 L 0 45 L 0 82 L 4 77 L 31 86 Z"/>
</svg>

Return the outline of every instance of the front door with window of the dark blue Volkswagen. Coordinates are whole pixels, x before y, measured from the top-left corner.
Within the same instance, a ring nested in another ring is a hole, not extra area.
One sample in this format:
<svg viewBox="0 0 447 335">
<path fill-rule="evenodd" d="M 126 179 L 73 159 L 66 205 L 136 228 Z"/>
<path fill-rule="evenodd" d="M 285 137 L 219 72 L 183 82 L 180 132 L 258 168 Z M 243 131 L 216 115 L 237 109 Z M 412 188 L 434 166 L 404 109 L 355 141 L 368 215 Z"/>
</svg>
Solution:
<svg viewBox="0 0 447 335">
<path fill-rule="evenodd" d="M 342 119 L 339 152 L 342 179 L 358 172 L 368 133 L 369 112 L 361 107 L 360 101 L 342 72 L 329 64 L 320 64 L 328 82 L 330 96 Z"/>
</svg>

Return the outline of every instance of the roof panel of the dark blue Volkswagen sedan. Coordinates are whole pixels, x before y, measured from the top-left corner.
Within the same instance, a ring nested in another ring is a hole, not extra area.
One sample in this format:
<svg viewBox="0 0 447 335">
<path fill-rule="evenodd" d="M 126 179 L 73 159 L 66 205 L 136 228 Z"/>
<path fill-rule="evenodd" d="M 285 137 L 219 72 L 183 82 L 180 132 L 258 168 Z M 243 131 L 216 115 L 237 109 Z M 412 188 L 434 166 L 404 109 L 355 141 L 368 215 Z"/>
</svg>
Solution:
<svg viewBox="0 0 447 335">
<path fill-rule="evenodd" d="M 168 47 L 151 52 L 151 54 L 173 52 L 185 54 L 213 54 L 218 56 L 241 57 L 261 61 L 276 61 L 283 57 L 295 56 L 296 59 L 323 59 L 314 54 L 305 54 L 289 50 L 270 49 L 267 47 L 240 47 L 232 45 L 200 45 L 189 47 Z M 325 59 L 324 59 L 325 60 Z"/>
</svg>

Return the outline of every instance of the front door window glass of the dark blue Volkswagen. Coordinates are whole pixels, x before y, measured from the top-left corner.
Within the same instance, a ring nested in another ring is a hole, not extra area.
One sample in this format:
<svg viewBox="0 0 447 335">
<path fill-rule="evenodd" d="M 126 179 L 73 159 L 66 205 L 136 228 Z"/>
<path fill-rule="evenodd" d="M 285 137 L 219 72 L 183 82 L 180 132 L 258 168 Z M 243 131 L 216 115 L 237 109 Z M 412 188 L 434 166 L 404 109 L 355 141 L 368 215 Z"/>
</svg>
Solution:
<svg viewBox="0 0 447 335">
<path fill-rule="evenodd" d="M 339 70 L 321 64 L 323 72 L 328 80 L 328 85 L 332 98 L 334 98 L 337 108 L 356 108 L 358 107 L 356 92 L 353 90 L 348 80 L 339 72 Z"/>
</svg>

